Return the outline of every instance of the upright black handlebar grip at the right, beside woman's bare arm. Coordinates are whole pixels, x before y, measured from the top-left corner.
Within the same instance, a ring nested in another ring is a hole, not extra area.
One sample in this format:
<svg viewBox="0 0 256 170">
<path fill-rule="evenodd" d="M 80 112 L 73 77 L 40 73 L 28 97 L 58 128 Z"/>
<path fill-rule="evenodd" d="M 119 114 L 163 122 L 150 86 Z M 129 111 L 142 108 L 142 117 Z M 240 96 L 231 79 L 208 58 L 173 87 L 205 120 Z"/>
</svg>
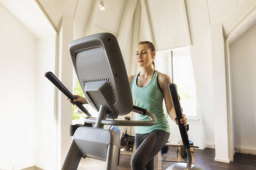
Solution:
<svg viewBox="0 0 256 170">
<path fill-rule="evenodd" d="M 168 86 L 169 86 L 169 90 L 171 92 L 171 97 L 172 97 L 174 109 L 175 109 L 177 120 L 178 120 L 181 139 L 182 139 L 184 147 L 186 149 L 189 149 L 190 145 L 189 145 L 189 139 L 188 139 L 186 126 L 184 124 L 180 123 L 180 119 L 182 118 L 182 109 L 181 109 L 181 106 L 180 106 L 180 100 L 179 100 L 179 97 L 178 97 L 176 84 L 171 83 Z"/>
</svg>

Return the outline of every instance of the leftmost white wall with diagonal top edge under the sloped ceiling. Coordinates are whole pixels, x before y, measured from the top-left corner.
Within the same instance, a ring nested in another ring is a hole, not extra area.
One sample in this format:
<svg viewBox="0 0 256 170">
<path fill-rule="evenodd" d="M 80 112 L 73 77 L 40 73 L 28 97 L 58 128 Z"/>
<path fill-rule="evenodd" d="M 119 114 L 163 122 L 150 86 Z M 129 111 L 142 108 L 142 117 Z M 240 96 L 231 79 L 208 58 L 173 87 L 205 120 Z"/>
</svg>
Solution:
<svg viewBox="0 0 256 170">
<path fill-rule="evenodd" d="M 21 169 L 34 164 L 35 38 L 2 4 L 0 20 L 0 169 Z"/>
</svg>

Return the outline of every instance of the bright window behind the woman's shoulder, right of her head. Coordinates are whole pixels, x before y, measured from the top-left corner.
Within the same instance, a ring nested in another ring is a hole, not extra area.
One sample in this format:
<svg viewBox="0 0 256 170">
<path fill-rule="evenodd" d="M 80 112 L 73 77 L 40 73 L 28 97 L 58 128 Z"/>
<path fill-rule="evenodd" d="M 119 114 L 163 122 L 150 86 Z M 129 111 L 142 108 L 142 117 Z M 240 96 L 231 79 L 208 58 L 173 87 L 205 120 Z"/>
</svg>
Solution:
<svg viewBox="0 0 256 170">
<path fill-rule="evenodd" d="M 197 118 L 196 87 L 189 47 L 156 53 L 156 70 L 169 75 L 177 84 L 183 113 Z"/>
</svg>

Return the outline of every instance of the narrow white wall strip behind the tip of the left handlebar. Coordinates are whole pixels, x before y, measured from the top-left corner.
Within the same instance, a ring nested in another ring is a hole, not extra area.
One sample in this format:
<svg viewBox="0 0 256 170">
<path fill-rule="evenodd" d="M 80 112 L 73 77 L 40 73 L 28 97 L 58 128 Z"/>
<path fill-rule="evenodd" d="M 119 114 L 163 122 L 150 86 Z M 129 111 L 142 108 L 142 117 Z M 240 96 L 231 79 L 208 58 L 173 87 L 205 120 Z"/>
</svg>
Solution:
<svg viewBox="0 0 256 170">
<path fill-rule="evenodd" d="M 54 86 L 44 77 L 55 69 L 55 35 L 36 40 L 34 164 L 43 169 L 55 169 L 56 116 Z"/>
</svg>

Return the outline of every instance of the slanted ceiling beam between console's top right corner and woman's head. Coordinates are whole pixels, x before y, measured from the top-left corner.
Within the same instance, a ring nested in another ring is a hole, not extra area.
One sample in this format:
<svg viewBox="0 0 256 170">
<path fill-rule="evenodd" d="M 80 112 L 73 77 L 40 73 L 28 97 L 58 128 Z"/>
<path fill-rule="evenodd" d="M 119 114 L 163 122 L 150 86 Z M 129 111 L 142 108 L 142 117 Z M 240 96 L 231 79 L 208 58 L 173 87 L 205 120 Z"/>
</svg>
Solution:
<svg viewBox="0 0 256 170">
<path fill-rule="evenodd" d="M 119 27 L 119 31 L 118 31 L 118 43 L 121 46 L 125 46 L 126 43 L 126 39 L 129 33 L 129 30 L 131 29 L 131 25 L 132 25 L 132 19 L 133 19 L 133 14 L 135 11 L 135 7 L 137 5 L 137 1 L 130 1 L 130 0 L 126 0 L 125 2 L 125 8 L 124 8 L 124 13 L 122 16 L 122 20 L 121 20 L 121 24 Z"/>
</svg>

